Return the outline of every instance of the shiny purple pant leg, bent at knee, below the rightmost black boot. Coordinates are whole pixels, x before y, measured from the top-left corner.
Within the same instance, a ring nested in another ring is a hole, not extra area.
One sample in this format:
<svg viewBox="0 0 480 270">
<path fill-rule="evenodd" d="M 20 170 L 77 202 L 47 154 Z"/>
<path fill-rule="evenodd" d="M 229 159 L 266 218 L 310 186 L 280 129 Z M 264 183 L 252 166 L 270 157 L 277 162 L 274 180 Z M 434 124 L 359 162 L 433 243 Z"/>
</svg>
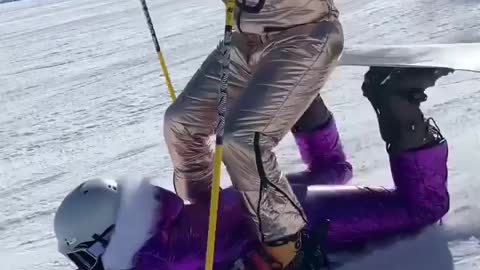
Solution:
<svg viewBox="0 0 480 270">
<path fill-rule="evenodd" d="M 449 209 L 446 142 L 390 157 L 394 189 L 295 185 L 310 226 L 330 220 L 329 251 L 416 231 Z"/>
</svg>

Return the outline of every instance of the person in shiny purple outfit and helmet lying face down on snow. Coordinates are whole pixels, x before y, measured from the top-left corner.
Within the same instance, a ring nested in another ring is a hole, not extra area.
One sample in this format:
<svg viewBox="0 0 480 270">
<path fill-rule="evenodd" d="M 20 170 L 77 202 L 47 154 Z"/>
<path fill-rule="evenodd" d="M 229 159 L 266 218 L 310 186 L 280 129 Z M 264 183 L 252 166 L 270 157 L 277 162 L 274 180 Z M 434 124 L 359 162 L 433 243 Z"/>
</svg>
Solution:
<svg viewBox="0 0 480 270">
<path fill-rule="evenodd" d="M 425 89 L 448 72 L 372 67 L 365 75 L 363 94 L 387 145 L 394 189 L 341 185 L 352 167 L 335 121 L 317 97 L 292 130 L 308 169 L 286 176 L 308 221 L 291 236 L 301 239 L 297 248 L 303 257 L 285 268 L 265 252 L 242 192 L 229 187 L 220 194 L 214 269 L 321 269 L 324 252 L 440 220 L 449 209 L 447 142 L 424 118 L 420 103 Z M 94 179 L 63 200 L 54 230 L 60 253 L 81 270 L 199 270 L 205 264 L 208 215 L 208 200 L 184 204 L 148 179 Z"/>
</svg>

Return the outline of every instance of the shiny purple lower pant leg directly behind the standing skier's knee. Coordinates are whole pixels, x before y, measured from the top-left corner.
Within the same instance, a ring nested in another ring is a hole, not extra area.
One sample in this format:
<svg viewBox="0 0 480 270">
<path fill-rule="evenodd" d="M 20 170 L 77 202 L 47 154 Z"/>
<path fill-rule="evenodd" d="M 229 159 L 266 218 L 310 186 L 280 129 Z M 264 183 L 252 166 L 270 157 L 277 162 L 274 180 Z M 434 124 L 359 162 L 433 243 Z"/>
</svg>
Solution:
<svg viewBox="0 0 480 270">
<path fill-rule="evenodd" d="M 352 165 L 346 160 L 333 117 L 314 131 L 294 132 L 306 170 L 287 175 L 290 183 L 341 185 L 352 178 Z"/>
</svg>

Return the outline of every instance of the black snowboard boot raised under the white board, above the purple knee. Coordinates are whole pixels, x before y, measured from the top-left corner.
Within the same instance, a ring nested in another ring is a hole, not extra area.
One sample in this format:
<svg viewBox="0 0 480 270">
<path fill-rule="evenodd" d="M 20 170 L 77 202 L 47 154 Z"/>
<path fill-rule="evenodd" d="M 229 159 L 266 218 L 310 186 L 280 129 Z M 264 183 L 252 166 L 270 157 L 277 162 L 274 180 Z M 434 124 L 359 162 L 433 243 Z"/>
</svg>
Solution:
<svg viewBox="0 0 480 270">
<path fill-rule="evenodd" d="M 425 90 L 451 72 L 440 68 L 371 67 L 365 74 L 363 95 L 377 114 L 390 155 L 444 140 L 433 119 L 424 118 L 420 103 L 427 100 Z"/>
</svg>

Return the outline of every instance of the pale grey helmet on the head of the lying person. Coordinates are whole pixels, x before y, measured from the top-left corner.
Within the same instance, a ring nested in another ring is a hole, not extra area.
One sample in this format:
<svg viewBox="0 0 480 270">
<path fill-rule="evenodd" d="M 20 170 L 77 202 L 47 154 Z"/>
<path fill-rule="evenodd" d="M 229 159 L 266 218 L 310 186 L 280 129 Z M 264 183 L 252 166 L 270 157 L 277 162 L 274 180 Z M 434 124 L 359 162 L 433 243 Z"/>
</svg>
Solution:
<svg viewBox="0 0 480 270">
<path fill-rule="evenodd" d="M 102 269 L 99 262 L 112 235 L 119 204 L 115 180 L 92 179 L 76 187 L 55 213 L 58 251 L 81 270 Z"/>
</svg>

